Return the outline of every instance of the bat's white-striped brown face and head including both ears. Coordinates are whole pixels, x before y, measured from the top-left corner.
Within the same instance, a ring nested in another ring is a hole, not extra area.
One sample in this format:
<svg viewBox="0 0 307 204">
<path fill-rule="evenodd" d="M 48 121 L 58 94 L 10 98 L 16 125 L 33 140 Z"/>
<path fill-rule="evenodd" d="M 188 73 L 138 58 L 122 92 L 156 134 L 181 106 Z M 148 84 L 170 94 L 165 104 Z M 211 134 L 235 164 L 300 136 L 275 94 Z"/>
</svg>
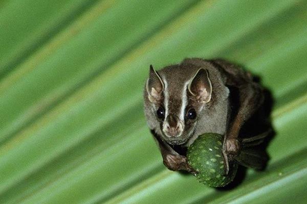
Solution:
<svg viewBox="0 0 307 204">
<path fill-rule="evenodd" d="M 144 91 L 149 126 L 169 144 L 186 143 L 193 136 L 211 92 L 206 69 L 184 72 L 175 65 L 157 73 L 150 67 Z"/>
</svg>

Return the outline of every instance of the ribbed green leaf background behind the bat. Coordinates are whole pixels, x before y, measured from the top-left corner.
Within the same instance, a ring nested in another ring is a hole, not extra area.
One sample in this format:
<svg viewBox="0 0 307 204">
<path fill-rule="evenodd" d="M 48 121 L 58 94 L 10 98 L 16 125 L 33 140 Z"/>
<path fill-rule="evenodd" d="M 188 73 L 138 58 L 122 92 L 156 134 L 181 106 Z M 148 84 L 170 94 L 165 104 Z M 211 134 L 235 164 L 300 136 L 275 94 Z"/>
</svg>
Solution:
<svg viewBox="0 0 307 204">
<path fill-rule="evenodd" d="M 306 203 L 307 2 L 0 2 L 0 203 Z M 265 172 L 217 191 L 167 170 L 149 64 L 222 57 L 275 98 Z"/>
</svg>

